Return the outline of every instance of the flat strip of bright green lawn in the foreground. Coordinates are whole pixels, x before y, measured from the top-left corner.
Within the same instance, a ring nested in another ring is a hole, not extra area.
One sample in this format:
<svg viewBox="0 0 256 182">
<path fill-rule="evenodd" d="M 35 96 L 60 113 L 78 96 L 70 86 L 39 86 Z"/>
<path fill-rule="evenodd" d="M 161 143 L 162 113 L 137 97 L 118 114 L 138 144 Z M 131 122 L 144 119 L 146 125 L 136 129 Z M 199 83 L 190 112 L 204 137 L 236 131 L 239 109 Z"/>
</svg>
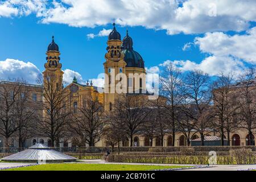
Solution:
<svg viewBox="0 0 256 182">
<path fill-rule="evenodd" d="M 147 171 L 187 166 L 150 166 L 123 164 L 41 164 L 38 166 L 8 169 L 8 171 Z"/>
</svg>

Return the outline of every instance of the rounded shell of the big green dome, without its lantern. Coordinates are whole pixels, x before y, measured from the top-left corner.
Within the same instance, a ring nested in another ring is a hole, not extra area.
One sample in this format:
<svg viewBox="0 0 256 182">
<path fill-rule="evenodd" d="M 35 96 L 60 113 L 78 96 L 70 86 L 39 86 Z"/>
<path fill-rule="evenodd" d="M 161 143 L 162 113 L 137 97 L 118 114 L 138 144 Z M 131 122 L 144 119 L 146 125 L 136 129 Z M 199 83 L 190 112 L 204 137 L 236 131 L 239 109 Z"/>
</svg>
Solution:
<svg viewBox="0 0 256 182">
<path fill-rule="evenodd" d="M 138 52 L 133 49 L 124 49 L 122 52 L 125 55 L 126 67 L 144 68 L 144 61 Z"/>
</svg>

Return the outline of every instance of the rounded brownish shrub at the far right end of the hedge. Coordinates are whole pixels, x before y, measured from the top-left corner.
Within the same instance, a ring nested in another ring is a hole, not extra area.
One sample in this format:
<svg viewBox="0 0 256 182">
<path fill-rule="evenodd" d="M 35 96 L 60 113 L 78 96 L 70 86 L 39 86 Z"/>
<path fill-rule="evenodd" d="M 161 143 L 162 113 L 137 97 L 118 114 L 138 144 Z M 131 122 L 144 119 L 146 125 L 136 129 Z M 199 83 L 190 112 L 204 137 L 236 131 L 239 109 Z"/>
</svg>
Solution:
<svg viewBox="0 0 256 182">
<path fill-rule="evenodd" d="M 253 151 L 246 148 L 231 150 L 230 156 L 234 158 L 237 164 L 248 164 L 254 160 Z"/>
</svg>

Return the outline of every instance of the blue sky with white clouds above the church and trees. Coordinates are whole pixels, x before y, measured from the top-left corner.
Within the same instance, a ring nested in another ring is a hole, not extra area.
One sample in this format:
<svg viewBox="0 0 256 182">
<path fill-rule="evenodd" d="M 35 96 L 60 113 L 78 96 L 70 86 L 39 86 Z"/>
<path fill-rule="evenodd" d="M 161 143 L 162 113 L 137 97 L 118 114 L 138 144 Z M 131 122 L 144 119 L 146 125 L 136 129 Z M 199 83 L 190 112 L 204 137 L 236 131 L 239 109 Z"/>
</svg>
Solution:
<svg viewBox="0 0 256 182">
<path fill-rule="evenodd" d="M 97 78 L 103 71 L 108 40 L 106 34 L 97 35 L 112 29 L 113 22 L 122 38 L 128 28 L 148 72 L 160 72 L 172 63 L 183 71 L 238 75 L 248 65 L 255 66 L 255 1 L 129 2 L 0 1 L 0 77 L 26 77 L 32 82 L 27 72 L 44 70 L 54 35 L 63 70 L 70 69 L 66 76 L 73 77 L 75 71 L 80 81 Z M 96 36 L 89 38 L 92 34 Z"/>
</svg>

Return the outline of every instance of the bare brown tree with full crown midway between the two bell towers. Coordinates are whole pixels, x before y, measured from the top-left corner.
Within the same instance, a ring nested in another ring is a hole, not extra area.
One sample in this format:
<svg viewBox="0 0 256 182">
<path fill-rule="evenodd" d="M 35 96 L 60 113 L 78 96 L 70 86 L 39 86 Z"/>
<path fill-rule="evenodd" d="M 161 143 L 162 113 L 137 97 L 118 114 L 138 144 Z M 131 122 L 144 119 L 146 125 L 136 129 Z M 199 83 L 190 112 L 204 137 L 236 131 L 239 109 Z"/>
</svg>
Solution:
<svg viewBox="0 0 256 182">
<path fill-rule="evenodd" d="M 103 107 L 98 96 L 87 96 L 77 113 L 73 114 L 72 130 L 76 135 L 84 138 L 89 146 L 94 146 L 100 141 L 104 128 Z"/>
</svg>

